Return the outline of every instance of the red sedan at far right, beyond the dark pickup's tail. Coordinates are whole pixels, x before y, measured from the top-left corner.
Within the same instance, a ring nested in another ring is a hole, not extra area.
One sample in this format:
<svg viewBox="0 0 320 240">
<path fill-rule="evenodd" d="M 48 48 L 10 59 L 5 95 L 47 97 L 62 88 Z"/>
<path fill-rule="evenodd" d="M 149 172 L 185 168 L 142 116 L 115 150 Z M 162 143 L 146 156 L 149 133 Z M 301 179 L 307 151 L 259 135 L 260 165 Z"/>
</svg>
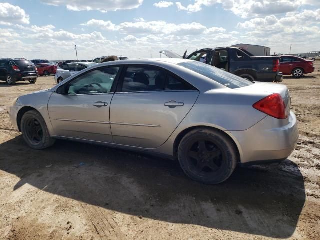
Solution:
<svg viewBox="0 0 320 240">
<path fill-rule="evenodd" d="M 280 72 L 283 75 L 301 77 L 303 74 L 314 71 L 313 61 L 297 56 L 280 56 Z"/>
</svg>

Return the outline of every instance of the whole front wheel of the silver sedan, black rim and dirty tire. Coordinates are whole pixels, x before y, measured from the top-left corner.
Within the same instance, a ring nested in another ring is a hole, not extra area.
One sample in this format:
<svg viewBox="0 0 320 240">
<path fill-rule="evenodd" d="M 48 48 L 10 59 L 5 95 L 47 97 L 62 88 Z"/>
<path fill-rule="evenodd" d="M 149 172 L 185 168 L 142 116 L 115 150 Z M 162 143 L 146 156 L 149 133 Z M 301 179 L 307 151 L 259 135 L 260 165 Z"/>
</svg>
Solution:
<svg viewBox="0 0 320 240">
<path fill-rule="evenodd" d="M 52 146 L 55 142 L 55 140 L 50 137 L 43 117 L 36 110 L 30 110 L 24 113 L 21 119 L 21 132 L 24 141 L 36 150 Z"/>
</svg>

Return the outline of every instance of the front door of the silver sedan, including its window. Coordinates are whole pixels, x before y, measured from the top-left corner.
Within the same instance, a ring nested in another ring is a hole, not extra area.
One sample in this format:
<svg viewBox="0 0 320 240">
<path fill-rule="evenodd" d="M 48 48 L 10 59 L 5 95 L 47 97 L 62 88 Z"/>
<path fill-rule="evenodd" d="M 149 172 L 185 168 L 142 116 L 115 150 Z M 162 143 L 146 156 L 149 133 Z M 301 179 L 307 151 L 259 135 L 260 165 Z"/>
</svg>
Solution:
<svg viewBox="0 0 320 240">
<path fill-rule="evenodd" d="M 100 67 L 65 83 L 66 94 L 52 93 L 48 112 L 56 135 L 112 142 L 110 102 L 120 67 Z"/>
</svg>

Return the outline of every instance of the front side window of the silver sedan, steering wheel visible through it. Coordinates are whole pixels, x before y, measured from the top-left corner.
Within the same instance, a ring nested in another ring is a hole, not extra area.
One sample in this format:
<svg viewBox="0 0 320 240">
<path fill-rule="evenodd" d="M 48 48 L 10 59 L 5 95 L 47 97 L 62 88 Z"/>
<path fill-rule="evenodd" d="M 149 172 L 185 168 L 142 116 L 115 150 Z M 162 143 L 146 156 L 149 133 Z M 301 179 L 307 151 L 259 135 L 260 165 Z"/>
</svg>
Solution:
<svg viewBox="0 0 320 240">
<path fill-rule="evenodd" d="M 68 84 L 68 94 L 98 94 L 111 91 L 120 67 L 102 67 L 76 77 Z"/>
</svg>

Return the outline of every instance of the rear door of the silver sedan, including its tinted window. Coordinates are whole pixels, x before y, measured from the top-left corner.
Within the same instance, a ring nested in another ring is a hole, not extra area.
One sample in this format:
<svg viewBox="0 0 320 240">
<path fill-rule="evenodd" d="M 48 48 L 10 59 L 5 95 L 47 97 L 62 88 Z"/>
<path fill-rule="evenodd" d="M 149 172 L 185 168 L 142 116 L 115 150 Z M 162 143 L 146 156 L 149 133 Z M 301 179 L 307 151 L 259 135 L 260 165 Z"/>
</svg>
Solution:
<svg viewBox="0 0 320 240">
<path fill-rule="evenodd" d="M 199 91 L 150 65 L 129 65 L 110 108 L 114 143 L 144 148 L 162 145 L 195 103 Z"/>
</svg>

